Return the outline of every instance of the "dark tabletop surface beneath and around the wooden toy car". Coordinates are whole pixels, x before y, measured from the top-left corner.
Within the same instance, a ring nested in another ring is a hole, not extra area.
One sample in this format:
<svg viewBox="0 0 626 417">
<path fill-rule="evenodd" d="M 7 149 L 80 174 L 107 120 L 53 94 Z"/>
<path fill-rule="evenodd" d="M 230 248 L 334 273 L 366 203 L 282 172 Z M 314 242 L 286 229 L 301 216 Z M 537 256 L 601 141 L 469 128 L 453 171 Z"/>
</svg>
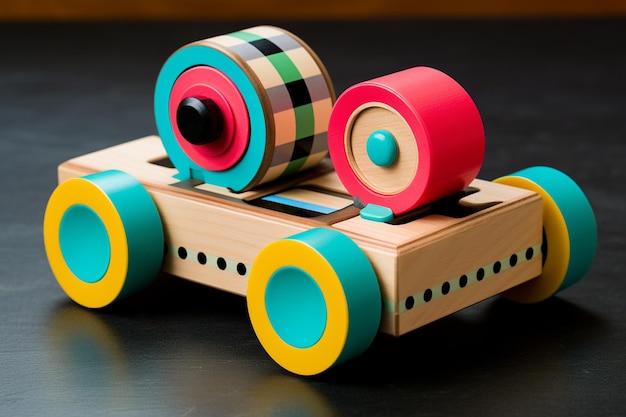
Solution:
<svg viewBox="0 0 626 417">
<path fill-rule="evenodd" d="M 581 283 L 482 302 L 358 359 L 293 376 L 245 299 L 159 277 L 104 311 L 69 301 L 42 217 L 59 163 L 155 134 L 167 56 L 258 23 L 304 39 L 338 92 L 417 65 L 447 72 L 486 128 L 480 178 L 570 174 L 599 230 Z M 0 24 L 0 415 L 626 415 L 626 21 Z"/>
</svg>

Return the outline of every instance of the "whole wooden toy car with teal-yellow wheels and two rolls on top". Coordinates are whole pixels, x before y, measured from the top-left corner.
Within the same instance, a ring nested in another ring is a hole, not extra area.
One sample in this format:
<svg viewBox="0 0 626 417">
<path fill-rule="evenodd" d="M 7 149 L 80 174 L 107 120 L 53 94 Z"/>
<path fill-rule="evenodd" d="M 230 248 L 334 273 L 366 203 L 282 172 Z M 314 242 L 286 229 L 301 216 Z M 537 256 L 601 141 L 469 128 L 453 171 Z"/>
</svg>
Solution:
<svg viewBox="0 0 626 417">
<path fill-rule="evenodd" d="M 304 42 L 256 27 L 176 51 L 155 115 L 159 137 L 59 167 L 45 247 L 85 307 L 162 270 L 246 296 L 268 354 L 314 375 L 378 331 L 399 336 L 501 293 L 541 301 L 594 257 L 591 206 L 565 174 L 475 178 L 480 115 L 432 68 L 335 102 Z"/>
</svg>

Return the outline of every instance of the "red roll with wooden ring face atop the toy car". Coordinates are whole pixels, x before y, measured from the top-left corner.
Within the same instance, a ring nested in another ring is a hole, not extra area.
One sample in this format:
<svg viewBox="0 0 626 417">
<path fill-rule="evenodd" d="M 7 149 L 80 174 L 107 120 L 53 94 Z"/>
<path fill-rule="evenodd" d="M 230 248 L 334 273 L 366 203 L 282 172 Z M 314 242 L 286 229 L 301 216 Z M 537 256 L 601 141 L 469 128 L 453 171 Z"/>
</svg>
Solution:
<svg viewBox="0 0 626 417">
<path fill-rule="evenodd" d="M 397 148 L 384 164 L 368 148 L 380 131 Z M 328 138 L 337 174 L 352 196 L 395 215 L 467 187 L 485 151 L 482 120 L 469 94 L 428 67 L 350 87 L 333 108 Z"/>
</svg>

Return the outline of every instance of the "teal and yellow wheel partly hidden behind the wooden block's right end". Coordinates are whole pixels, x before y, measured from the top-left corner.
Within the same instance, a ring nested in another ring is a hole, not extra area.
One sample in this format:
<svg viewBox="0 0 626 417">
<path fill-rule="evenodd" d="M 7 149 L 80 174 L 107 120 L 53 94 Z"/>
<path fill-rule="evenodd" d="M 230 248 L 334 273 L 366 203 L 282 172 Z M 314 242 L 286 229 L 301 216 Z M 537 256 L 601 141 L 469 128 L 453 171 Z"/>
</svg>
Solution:
<svg viewBox="0 0 626 417">
<path fill-rule="evenodd" d="M 591 268 L 598 233 L 591 204 L 574 180 L 554 168 L 531 167 L 495 182 L 534 191 L 543 200 L 543 271 L 505 296 L 535 303 L 580 281 Z"/>
</svg>

